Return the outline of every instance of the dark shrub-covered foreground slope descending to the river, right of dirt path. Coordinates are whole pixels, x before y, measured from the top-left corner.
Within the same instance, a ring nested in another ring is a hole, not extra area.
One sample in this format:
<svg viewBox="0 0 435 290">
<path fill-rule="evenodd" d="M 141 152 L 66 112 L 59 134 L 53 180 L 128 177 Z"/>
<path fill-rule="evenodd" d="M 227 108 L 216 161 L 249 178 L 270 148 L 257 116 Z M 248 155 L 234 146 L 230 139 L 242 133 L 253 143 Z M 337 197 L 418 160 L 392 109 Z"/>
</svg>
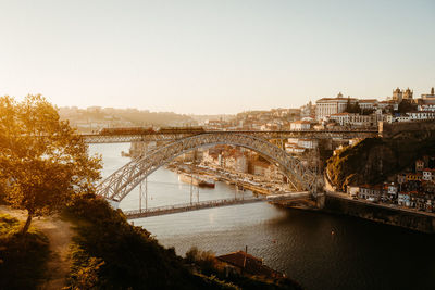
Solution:
<svg viewBox="0 0 435 290">
<path fill-rule="evenodd" d="M 289 279 L 240 276 L 228 282 L 199 266 L 191 270 L 173 248 L 92 194 L 75 197 L 64 216 L 77 234 L 67 289 L 301 289 Z"/>
</svg>

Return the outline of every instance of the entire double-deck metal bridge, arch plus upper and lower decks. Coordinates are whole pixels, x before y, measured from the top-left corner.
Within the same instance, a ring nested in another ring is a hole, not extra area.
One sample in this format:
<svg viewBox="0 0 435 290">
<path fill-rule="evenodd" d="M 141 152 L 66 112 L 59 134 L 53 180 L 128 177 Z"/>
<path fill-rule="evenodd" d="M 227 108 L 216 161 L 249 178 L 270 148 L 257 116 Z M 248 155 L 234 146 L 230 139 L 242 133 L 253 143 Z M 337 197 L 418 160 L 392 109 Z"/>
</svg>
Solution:
<svg viewBox="0 0 435 290">
<path fill-rule="evenodd" d="M 110 131 L 109 131 L 110 133 Z M 113 131 L 112 131 L 113 133 Z M 281 172 L 288 177 L 289 184 L 296 191 L 309 192 L 310 197 L 316 199 L 318 189 L 323 188 L 323 178 L 316 173 L 310 171 L 298 159 L 288 154 L 282 148 L 273 144 L 271 139 L 284 138 L 363 138 L 377 136 L 375 129 L 363 130 L 287 130 L 287 131 L 198 131 L 198 129 L 189 131 L 187 128 L 181 130 L 153 131 L 142 130 L 140 134 L 126 130 L 114 130 L 116 134 L 94 134 L 83 135 L 85 142 L 88 143 L 114 143 L 114 142 L 147 142 L 147 141 L 164 141 L 159 147 L 146 152 L 146 154 L 136 157 L 108 176 L 97 186 L 97 193 L 113 205 L 117 204 L 134 188 L 140 185 L 147 177 L 159 167 L 169 164 L 181 154 L 187 153 L 201 147 L 210 147 L 215 144 L 232 144 L 250 149 L 271 164 L 277 166 Z M 289 197 L 287 197 L 289 198 Z M 191 211 L 214 206 L 224 206 L 231 204 L 240 204 L 247 202 L 264 201 L 264 199 L 246 200 L 246 201 L 216 201 L 202 202 L 196 204 L 173 205 L 172 207 L 139 210 L 140 212 L 128 213 L 127 216 L 150 216 L 157 214 L 167 214 L 174 212 Z"/>
</svg>

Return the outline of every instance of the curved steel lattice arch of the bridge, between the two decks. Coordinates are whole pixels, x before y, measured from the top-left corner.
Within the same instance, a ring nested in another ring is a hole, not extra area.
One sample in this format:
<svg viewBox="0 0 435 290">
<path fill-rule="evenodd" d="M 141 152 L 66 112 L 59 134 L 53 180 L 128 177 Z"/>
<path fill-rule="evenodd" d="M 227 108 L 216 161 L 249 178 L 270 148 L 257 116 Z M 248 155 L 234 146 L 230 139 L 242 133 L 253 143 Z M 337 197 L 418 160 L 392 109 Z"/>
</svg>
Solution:
<svg viewBox="0 0 435 290">
<path fill-rule="evenodd" d="M 265 139 L 243 134 L 207 133 L 182 138 L 165 146 L 148 151 L 145 156 L 137 157 L 97 186 L 97 193 L 114 202 L 121 202 L 148 175 L 176 156 L 200 147 L 214 144 L 233 144 L 260 153 L 275 164 L 293 185 L 301 191 L 310 191 L 314 197 L 321 186 L 321 178 L 307 168 L 301 162 Z"/>
</svg>

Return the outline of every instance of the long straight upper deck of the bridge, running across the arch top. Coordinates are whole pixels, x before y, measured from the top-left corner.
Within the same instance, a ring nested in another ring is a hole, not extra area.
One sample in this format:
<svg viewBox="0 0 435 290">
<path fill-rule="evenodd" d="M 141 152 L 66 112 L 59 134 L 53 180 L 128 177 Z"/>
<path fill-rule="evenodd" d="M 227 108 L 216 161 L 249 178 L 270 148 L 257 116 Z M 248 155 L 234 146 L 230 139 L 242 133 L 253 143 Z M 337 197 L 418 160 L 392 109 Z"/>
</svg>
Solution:
<svg viewBox="0 0 435 290">
<path fill-rule="evenodd" d="M 174 141 L 185 137 L 200 134 L 241 134 L 263 139 L 287 139 L 287 138 L 309 138 L 309 139 L 352 139 L 368 138 L 378 135 L 377 129 L 352 129 L 352 130 L 210 130 L 204 133 L 186 131 L 182 133 L 144 133 L 144 134 L 83 134 L 82 138 L 86 143 L 126 143 L 126 142 L 147 142 L 147 141 Z"/>
</svg>

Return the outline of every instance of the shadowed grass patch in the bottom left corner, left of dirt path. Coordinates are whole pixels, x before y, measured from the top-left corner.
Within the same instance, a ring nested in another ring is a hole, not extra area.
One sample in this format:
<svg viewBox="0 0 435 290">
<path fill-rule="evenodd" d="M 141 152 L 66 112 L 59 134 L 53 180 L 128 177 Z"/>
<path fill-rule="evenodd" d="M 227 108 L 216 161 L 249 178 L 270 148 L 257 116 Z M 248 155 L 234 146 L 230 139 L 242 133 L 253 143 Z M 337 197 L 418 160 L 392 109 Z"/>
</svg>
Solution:
<svg viewBox="0 0 435 290">
<path fill-rule="evenodd" d="M 49 257 L 48 238 L 30 227 L 22 236 L 22 223 L 0 215 L 0 289 L 37 289 Z"/>
</svg>

